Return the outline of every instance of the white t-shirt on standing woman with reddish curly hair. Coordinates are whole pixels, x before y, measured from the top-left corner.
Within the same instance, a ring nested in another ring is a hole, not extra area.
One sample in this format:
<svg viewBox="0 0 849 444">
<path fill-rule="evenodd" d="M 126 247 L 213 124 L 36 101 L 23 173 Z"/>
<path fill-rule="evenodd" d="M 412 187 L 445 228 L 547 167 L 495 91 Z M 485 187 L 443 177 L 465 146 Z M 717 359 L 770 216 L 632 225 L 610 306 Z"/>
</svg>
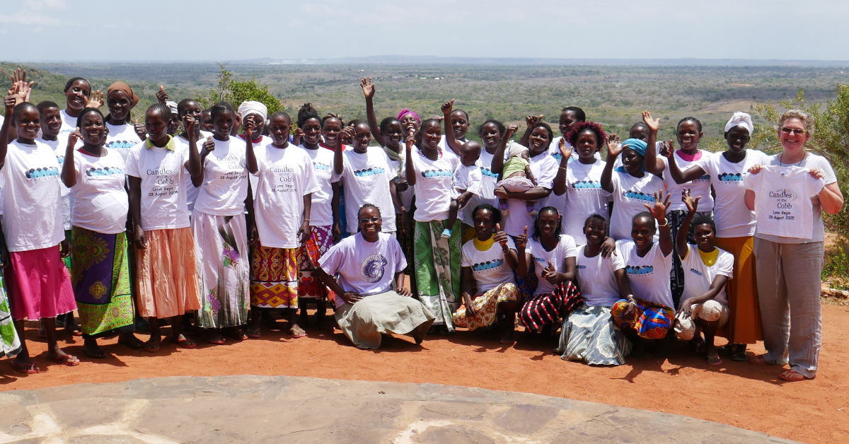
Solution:
<svg viewBox="0 0 849 444">
<path fill-rule="evenodd" d="M 563 216 L 563 232 L 575 238 L 576 244 L 586 244 L 583 233 L 584 222 L 589 216 L 598 214 L 607 220 L 607 200 L 609 197 L 601 188 L 601 173 L 604 162 L 596 160 L 593 164 L 580 161 L 569 162 L 566 167 L 566 193 Z"/>
</svg>

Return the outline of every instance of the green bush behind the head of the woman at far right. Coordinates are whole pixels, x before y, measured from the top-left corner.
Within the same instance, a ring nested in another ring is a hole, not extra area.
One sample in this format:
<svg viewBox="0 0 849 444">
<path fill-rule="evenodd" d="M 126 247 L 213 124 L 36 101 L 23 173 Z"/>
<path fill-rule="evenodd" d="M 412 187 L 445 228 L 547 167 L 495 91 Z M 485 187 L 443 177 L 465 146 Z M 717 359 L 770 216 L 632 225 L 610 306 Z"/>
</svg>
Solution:
<svg viewBox="0 0 849 444">
<path fill-rule="evenodd" d="M 844 198 L 849 197 L 849 168 L 846 166 L 846 159 L 849 159 L 849 85 L 838 84 L 835 97 L 829 98 L 825 106 L 807 103 L 804 89 L 800 89 L 793 100 L 780 101 L 778 104 L 783 109 L 803 110 L 811 115 L 813 133 L 807 147 L 829 160 Z M 769 124 L 756 128 L 750 145 L 770 154 L 778 153 L 781 145 L 772 125 L 779 121 L 784 111 L 766 103 L 756 104 L 755 112 Z M 829 230 L 844 237 L 849 235 L 849 211 L 827 214 L 825 222 Z"/>
</svg>

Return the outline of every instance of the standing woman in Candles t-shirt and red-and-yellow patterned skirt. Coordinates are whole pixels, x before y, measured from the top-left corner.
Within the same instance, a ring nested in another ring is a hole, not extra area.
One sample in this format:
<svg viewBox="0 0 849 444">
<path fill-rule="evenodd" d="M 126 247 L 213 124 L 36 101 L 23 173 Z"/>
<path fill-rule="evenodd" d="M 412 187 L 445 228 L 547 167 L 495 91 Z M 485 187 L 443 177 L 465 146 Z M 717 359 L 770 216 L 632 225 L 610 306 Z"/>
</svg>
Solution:
<svg viewBox="0 0 849 444">
<path fill-rule="evenodd" d="M 298 326 L 301 294 L 298 268 L 303 245 L 310 237 L 312 194 L 318 182 L 312 160 L 306 150 L 290 145 L 292 121 L 286 113 L 271 115 L 273 142 L 256 149 L 256 200 L 254 226 L 250 239 L 254 244 L 250 258 L 250 306 L 253 312 L 248 335 L 260 334 L 258 310 L 290 309 L 290 334 L 301 338 Z M 245 119 L 245 135 L 255 129 L 253 116 Z"/>
</svg>

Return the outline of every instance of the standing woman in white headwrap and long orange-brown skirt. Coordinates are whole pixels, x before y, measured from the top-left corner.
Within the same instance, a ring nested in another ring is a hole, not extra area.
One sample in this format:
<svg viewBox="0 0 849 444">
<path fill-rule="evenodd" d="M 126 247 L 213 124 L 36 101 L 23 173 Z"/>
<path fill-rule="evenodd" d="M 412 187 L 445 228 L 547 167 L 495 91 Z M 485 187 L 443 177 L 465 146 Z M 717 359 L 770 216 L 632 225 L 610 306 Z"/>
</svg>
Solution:
<svg viewBox="0 0 849 444">
<path fill-rule="evenodd" d="M 751 166 L 764 163 L 767 155 L 745 149 L 754 126 L 751 115 L 735 112 L 725 124 L 728 150 L 721 155 L 706 156 L 681 171 L 674 158 L 669 162 L 672 178 L 685 183 L 694 177 L 711 176 L 716 192 L 713 208 L 717 224 L 717 247 L 734 255 L 734 278 L 728 281 L 728 306 L 731 318 L 719 334 L 728 338 L 721 349 L 734 361 L 745 361 L 745 345 L 761 339 L 761 317 L 758 311 L 755 281 L 755 256 L 752 243 L 755 235 L 755 212 L 745 206 L 743 177 Z"/>
</svg>

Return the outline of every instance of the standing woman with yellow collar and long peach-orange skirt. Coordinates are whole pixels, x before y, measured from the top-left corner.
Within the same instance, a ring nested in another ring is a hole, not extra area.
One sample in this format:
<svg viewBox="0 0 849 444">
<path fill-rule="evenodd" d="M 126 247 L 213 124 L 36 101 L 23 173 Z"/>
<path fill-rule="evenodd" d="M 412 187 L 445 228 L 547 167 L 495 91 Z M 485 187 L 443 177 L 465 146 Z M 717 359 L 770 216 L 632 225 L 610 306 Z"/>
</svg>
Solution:
<svg viewBox="0 0 849 444">
<path fill-rule="evenodd" d="M 171 319 L 171 340 L 194 348 L 181 332 L 185 312 L 200 309 L 200 286 L 186 204 L 185 177 L 200 176 L 200 153 L 195 148 L 199 120 L 184 115 L 188 149 L 168 135 L 171 110 L 156 103 L 144 115 L 149 137 L 127 155 L 130 214 L 136 259 L 136 297 L 139 315 L 148 318 L 147 351 L 160 347 L 160 319 Z"/>
</svg>

